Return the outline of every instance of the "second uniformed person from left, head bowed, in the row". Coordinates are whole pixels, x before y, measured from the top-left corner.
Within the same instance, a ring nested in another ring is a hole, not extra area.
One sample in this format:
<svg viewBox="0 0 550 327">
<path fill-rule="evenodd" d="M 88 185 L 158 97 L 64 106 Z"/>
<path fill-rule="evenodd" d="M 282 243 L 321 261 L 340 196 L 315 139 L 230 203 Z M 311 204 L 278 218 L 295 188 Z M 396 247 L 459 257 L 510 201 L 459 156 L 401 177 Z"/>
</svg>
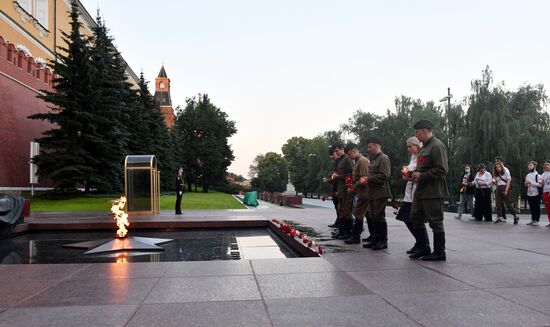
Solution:
<svg viewBox="0 0 550 327">
<path fill-rule="evenodd" d="M 357 197 L 357 204 L 353 210 L 355 223 L 351 231 L 351 237 L 345 240 L 347 244 L 361 243 L 361 233 L 363 232 L 363 219 L 367 214 L 367 174 L 369 172 L 369 159 L 365 158 L 360 152 L 356 144 L 349 143 L 344 149 L 349 159 L 355 161 L 353 166 L 352 176 L 353 185 L 348 188 L 348 192 L 354 193 Z"/>
</svg>

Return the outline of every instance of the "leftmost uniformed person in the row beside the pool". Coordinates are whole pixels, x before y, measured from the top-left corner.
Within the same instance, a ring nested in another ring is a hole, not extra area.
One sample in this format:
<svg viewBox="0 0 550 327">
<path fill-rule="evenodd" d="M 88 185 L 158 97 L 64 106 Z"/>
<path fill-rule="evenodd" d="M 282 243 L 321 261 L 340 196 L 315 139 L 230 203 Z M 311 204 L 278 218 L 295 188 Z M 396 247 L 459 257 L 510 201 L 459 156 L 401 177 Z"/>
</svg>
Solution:
<svg viewBox="0 0 550 327">
<path fill-rule="evenodd" d="M 351 181 L 353 165 L 348 156 L 344 153 L 344 145 L 334 145 L 334 152 L 340 158 L 336 165 L 336 171 L 332 174 L 332 180 L 338 183 L 338 231 L 333 235 L 335 239 L 347 240 L 351 237 L 353 217 L 351 215 L 353 206 L 353 195 L 348 192 L 346 181 Z"/>
</svg>

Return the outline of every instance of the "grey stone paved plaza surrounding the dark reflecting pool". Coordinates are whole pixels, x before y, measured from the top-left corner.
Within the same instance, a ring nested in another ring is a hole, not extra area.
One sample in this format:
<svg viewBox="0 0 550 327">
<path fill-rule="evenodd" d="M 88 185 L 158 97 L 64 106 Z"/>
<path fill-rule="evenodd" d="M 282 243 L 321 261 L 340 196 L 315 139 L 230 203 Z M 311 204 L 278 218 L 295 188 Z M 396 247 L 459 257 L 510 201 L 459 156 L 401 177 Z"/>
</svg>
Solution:
<svg viewBox="0 0 550 327">
<path fill-rule="evenodd" d="M 328 240 L 334 210 L 315 201 L 181 219 L 291 220 L 320 233 L 323 258 L 4 265 L 0 326 L 550 326 L 550 228 L 449 214 L 448 261 L 427 263 L 404 254 L 393 210 L 375 252 Z"/>
</svg>

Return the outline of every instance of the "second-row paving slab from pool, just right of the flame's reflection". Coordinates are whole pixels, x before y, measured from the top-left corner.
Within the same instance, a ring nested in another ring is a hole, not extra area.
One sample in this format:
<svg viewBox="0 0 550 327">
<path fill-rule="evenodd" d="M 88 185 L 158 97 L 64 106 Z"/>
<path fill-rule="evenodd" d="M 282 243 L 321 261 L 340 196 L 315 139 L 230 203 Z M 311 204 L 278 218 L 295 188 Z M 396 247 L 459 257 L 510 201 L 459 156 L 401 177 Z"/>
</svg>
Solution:
<svg viewBox="0 0 550 327">
<path fill-rule="evenodd" d="M 261 299 L 252 275 L 163 278 L 145 303 L 205 302 Z"/>
</svg>

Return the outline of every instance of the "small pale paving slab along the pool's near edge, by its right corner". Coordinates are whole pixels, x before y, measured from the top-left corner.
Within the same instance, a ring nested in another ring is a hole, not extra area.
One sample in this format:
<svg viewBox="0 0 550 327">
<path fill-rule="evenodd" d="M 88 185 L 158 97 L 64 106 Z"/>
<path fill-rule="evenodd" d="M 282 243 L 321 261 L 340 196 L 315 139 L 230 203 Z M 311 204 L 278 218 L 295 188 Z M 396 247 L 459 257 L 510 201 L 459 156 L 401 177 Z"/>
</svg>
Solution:
<svg viewBox="0 0 550 327">
<path fill-rule="evenodd" d="M 256 275 L 327 272 L 338 270 L 334 267 L 334 265 L 323 258 L 258 259 L 250 260 L 250 262 Z"/>
</svg>

